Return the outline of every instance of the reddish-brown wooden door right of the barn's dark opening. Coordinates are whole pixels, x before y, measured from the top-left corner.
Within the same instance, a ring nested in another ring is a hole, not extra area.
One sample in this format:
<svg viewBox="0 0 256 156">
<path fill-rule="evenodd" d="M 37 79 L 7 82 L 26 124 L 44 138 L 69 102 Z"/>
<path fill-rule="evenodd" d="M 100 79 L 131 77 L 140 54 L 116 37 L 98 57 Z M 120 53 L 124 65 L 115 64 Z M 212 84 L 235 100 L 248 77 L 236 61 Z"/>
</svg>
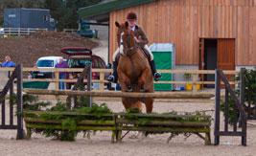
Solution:
<svg viewBox="0 0 256 156">
<path fill-rule="evenodd" d="M 221 70 L 235 70 L 235 39 L 218 39 L 217 67 Z M 233 81 L 234 76 L 226 76 Z M 235 85 L 231 85 L 235 87 Z M 221 85 L 221 88 L 224 86 Z"/>
</svg>

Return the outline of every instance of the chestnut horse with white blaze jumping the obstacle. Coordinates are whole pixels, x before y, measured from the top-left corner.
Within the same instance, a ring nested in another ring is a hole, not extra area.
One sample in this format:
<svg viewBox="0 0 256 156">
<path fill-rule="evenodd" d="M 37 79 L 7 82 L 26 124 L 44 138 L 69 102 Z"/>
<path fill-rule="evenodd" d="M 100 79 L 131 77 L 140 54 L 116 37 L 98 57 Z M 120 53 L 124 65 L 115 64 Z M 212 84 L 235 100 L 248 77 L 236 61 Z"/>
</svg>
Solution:
<svg viewBox="0 0 256 156">
<path fill-rule="evenodd" d="M 117 72 L 122 92 L 153 92 L 153 78 L 151 66 L 143 50 L 137 45 L 134 33 L 125 24 L 115 23 L 118 28 L 117 41 L 120 45 L 120 58 L 118 60 Z M 146 105 L 147 113 L 152 111 L 152 98 L 122 98 L 126 109 L 138 108 L 142 110 L 142 102 Z"/>
</svg>

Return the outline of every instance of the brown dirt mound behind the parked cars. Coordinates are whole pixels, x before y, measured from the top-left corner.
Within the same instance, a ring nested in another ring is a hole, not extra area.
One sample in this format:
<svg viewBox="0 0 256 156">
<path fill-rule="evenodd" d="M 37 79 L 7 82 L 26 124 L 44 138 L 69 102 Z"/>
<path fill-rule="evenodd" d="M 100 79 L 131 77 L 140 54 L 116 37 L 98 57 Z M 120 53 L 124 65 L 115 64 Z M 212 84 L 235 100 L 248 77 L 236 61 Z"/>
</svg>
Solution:
<svg viewBox="0 0 256 156">
<path fill-rule="evenodd" d="M 0 38 L 0 62 L 9 55 L 15 63 L 32 67 L 40 56 L 65 56 L 60 49 L 67 46 L 95 48 L 98 43 L 71 33 L 36 32 L 27 36 Z"/>
</svg>

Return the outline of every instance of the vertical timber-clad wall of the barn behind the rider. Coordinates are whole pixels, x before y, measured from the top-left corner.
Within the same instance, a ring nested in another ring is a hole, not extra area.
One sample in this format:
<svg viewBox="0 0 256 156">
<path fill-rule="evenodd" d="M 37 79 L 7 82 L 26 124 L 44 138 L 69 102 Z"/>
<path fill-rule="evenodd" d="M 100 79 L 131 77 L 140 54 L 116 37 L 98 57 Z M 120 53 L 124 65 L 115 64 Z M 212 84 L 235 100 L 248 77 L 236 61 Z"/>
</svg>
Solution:
<svg viewBox="0 0 256 156">
<path fill-rule="evenodd" d="M 172 42 L 176 64 L 198 64 L 198 39 L 235 38 L 236 65 L 256 65 L 256 0 L 157 0 L 151 4 L 110 12 L 110 59 L 117 47 L 115 21 L 129 11 L 151 43 Z"/>
</svg>

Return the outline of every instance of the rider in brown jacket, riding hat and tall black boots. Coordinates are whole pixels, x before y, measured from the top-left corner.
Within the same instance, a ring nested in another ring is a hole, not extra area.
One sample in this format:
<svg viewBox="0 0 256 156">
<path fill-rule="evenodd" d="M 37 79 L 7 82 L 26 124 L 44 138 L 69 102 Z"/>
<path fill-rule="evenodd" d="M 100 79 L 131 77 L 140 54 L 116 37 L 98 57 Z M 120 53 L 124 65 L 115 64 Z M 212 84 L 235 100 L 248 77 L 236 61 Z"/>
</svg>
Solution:
<svg viewBox="0 0 256 156">
<path fill-rule="evenodd" d="M 134 32 L 135 41 L 142 49 L 144 49 L 144 51 L 146 53 L 148 53 L 147 56 L 150 56 L 149 62 L 151 65 L 151 71 L 152 71 L 152 76 L 153 76 L 154 80 L 156 80 L 156 81 L 159 80 L 159 78 L 161 78 L 161 74 L 156 72 L 155 64 L 153 61 L 153 56 L 151 54 L 150 48 L 147 45 L 149 43 L 149 40 L 148 40 L 146 34 L 143 32 L 142 28 L 136 24 L 136 21 L 137 21 L 136 13 L 129 12 L 128 16 L 127 16 L 127 20 L 128 20 L 129 29 Z M 107 78 L 109 81 L 112 81 L 112 82 L 117 82 L 117 79 L 118 79 L 118 75 L 117 75 L 117 65 L 118 65 L 117 56 L 118 56 L 118 54 L 119 54 L 119 48 L 113 54 L 113 75 L 110 75 Z"/>
</svg>

